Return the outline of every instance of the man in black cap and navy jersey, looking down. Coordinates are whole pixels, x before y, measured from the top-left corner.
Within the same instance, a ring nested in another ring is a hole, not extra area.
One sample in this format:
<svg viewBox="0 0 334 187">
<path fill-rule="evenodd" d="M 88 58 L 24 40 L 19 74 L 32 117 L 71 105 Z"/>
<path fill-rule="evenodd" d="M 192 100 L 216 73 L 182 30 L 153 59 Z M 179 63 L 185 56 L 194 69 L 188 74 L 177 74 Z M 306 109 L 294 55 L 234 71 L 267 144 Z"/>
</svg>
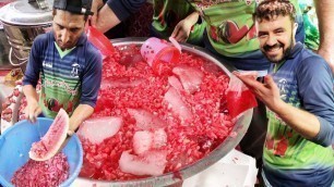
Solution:
<svg viewBox="0 0 334 187">
<path fill-rule="evenodd" d="M 35 122 L 41 112 L 55 117 L 62 108 L 71 116 L 72 134 L 94 112 L 102 79 L 102 55 L 84 33 L 92 15 L 91 5 L 91 0 L 55 0 L 52 30 L 34 40 L 23 78 L 29 121 Z"/>
</svg>

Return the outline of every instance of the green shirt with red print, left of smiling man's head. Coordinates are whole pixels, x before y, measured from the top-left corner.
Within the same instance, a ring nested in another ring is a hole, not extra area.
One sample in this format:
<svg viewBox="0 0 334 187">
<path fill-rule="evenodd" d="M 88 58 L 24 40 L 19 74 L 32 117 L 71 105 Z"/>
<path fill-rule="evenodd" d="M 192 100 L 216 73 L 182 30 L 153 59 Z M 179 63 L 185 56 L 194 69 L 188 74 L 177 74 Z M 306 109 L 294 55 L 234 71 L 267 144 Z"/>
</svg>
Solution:
<svg viewBox="0 0 334 187">
<path fill-rule="evenodd" d="M 211 45 L 220 54 L 238 57 L 259 49 L 253 13 L 255 0 L 202 1 L 192 0 L 191 4 L 206 22 Z M 300 14 L 297 0 L 291 3 Z"/>
</svg>

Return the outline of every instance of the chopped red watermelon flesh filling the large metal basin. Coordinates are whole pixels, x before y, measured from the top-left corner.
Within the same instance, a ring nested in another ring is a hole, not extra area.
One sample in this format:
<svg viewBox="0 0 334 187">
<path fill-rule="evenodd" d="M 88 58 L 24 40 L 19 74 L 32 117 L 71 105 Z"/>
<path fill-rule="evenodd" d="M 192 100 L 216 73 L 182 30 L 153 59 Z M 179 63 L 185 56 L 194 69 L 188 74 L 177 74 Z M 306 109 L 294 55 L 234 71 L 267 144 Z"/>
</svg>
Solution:
<svg viewBox="0 0 334 187">
<path fill-rule="evenodd" d="M 116 135 L 98 145 L 81 138 L 84 148 L 81 176 L 103 180 L 144 178 L 150 175 L 148 172 L 145 172 L 146 175 L 134 175 L 131 174 L 132 170 L 136 171 L 143 165 L 151 166 L 152 164 L 148 164 L 151 162 L 147 161 L 150 159 L 143 154 L 154 155 L 153 151 L 162 150 L 167 151 L 166 166 L 154 169 L 160 171 L 164 169 L 164 173 L 177 172 L 204 158 L 224 141 L 230 134 L 235 121 L 228 112 L 223 113 L 219 109 L 222 98 L 226 98 L 229 80 L 222 70 L 215 68 L 215 64 L 207 65 L 211 62 L 195 54 L 182 52 L 178 66 L 196 67 L 203 73 L 201 89 L 190 95 L 183 89 L 177 75 L 157 75 L 147 63 L 143 62 L 130 67 L 121 65 L 119 59 L 122 54 L 119 50 L 122 48 L 117 47 L 114 55 L 104 60 L 103 83 L 109 82 L 115 75 L 130 77 L 130 82 L 138 78 L 143 78 L 144 82 L 130 87 L 100 89 L 94 117 L 121 116 L 123 124 Z M 175 77 L 171 82 L 170 76 Z M 128 109 L 134 110 L 132 111 L 134 114 Z M 179 112 L 186 115 L 180 115 Z M 159 120 L 155 121 L 152 117 Z M 163 121 L 164 125 L 155 123 L 159 121 Z M 139 125 L 138 122 L 148 122 L 148 125 L 145 123 Z M 152 141 L 148 141 L 151 148 L 141 154 L 138 154 L 133 148 L 133 136 L 138 130 L 153 134 Z M 128 165 L 120 162 L 124 151 L 128 151 L 124 155 L 129 158 L 131 154 L 130 158 L 133 158 Z M 162 159 L 156 159 L 157 163 L 162 162 Z M 132 163 L 134 165 L 131 165 Z M 130 171 L 126 172 L 123 166 L 130 167 Z"/>
</svg>

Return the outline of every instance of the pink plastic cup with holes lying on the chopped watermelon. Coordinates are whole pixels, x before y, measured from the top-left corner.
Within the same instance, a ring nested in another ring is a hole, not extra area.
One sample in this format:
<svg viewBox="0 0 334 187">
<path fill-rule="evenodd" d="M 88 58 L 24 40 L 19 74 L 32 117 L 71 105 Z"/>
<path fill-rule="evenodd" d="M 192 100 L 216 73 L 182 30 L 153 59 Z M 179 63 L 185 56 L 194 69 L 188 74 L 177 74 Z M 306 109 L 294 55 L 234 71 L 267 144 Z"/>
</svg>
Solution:
<svg viewBox="0 0 334 187">
<path fill-rule="evenodd" d="M 172 43 L 152 37 L 141 47 L 141 54 L 155 73 L 162 74 L 165 65 L 178 63 L 181 52 Z"/>
</svg>

